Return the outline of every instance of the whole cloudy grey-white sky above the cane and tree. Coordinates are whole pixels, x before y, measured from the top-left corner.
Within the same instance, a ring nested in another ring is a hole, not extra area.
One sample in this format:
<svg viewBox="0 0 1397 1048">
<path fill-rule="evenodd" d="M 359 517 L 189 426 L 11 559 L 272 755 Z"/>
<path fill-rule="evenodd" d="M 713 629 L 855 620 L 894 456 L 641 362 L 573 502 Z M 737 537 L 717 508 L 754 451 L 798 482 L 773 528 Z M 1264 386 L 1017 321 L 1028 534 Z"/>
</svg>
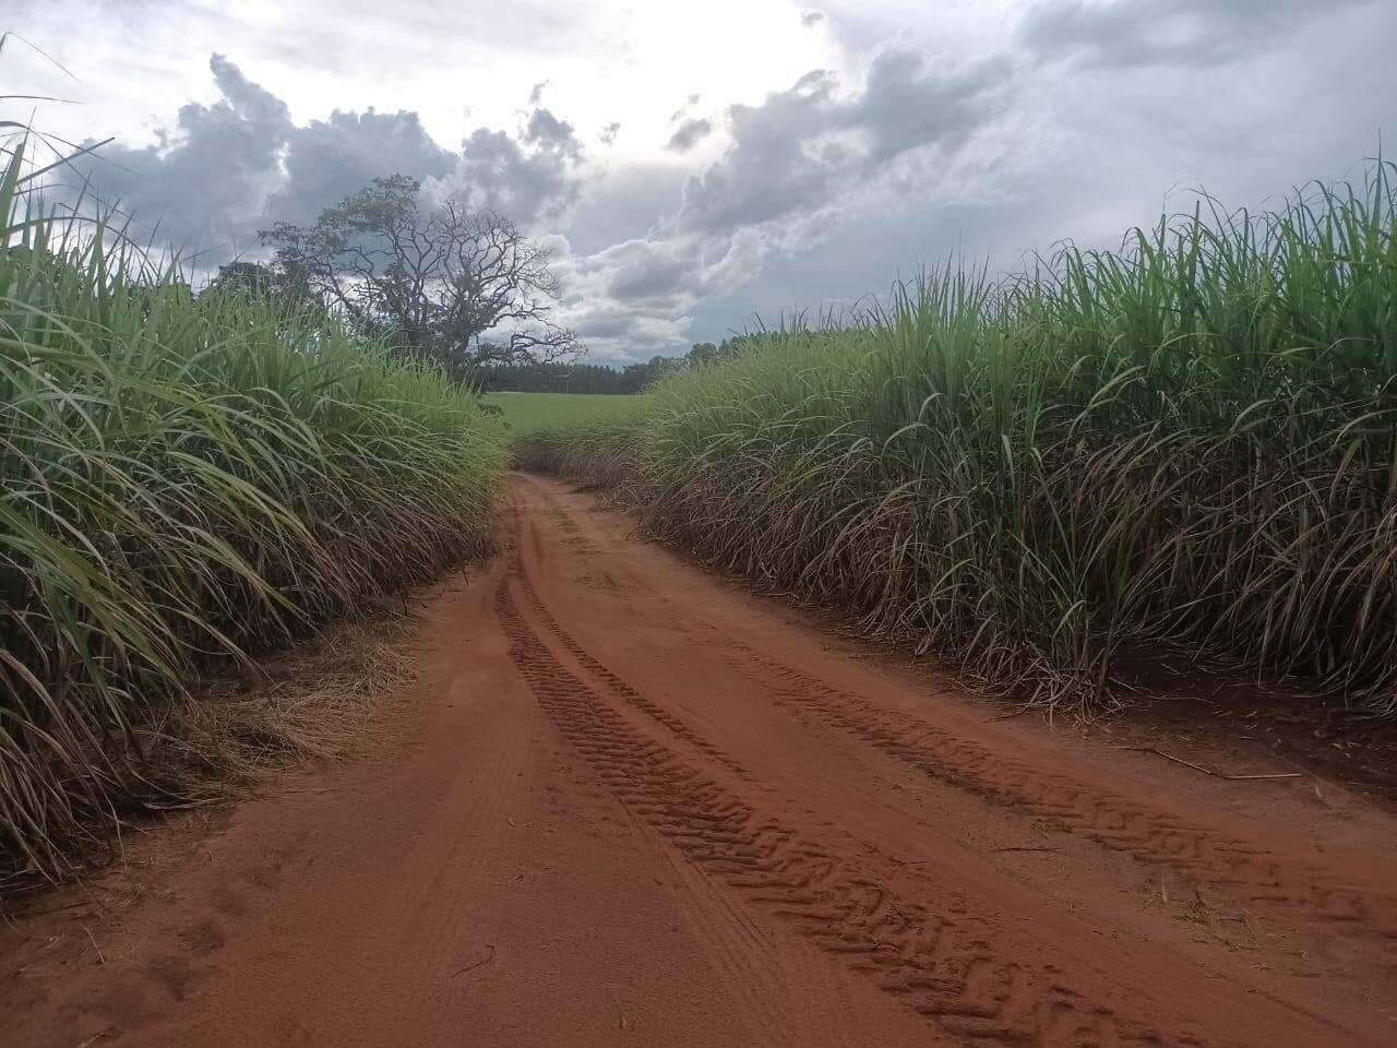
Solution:
<svg viewBox="0 0 1397 1048">
<path fill-rule="evenodd" d="M 1264 205 L 1397 133 L 1397 0 L 6 0 L 0 117 L 208 263 L 394 172 L 546 239 L 594 361 L 953 253 Z M 63 68 L 60 68 L 61 66 Z M 64 71 L 67 70 L 67 73 Z M 68 75 L 71 73 L 71 77 Z"/>
</svg>

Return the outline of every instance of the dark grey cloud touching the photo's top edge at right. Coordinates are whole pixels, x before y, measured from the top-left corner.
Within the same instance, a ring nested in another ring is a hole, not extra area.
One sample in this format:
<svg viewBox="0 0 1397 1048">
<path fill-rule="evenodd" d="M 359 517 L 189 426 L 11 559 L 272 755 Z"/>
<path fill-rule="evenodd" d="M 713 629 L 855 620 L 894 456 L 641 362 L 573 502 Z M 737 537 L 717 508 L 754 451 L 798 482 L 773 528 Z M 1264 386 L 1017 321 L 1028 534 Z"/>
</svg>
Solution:
<svg viewBox="0 0 1397 1048">
<path fill-rule="evenodd" d="M 1220 66 L 1274 48 L 1309 22 L 1372 0 L 1049 0 L 1020 39 L 1094 66 Z"/>
</svg>

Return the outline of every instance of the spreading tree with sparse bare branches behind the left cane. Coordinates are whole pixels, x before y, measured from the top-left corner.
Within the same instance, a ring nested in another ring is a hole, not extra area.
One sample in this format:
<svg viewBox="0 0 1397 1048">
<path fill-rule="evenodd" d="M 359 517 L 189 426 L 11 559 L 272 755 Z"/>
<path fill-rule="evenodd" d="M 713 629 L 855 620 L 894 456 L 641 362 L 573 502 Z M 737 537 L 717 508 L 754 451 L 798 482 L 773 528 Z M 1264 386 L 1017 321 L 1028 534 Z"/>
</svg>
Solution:
<svg viewBox="0 0 1397 1048">
<path fill-rule="evenodd" d="M 420 189 L 405 175 L 374 179 L 312 226 L 277 222 L 258 236 L 288 286 L 454 366 L 580 356 L 577 334 L 552 319 L 549 249 L 495 211 L 423 201 Z"/>
</svg>

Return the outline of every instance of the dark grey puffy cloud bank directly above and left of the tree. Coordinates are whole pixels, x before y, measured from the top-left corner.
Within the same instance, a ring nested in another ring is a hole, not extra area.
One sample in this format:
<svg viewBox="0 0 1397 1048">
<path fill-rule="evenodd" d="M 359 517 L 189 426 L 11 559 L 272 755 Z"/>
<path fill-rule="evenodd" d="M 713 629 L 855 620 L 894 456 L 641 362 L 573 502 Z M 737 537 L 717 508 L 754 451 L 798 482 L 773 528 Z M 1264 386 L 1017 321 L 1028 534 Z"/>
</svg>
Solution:
<svg viewBox="0 0 1397 1048">
<path fill-rule="evenodd" d="M 142 236 L 156 226 L 159 239 L 205 265 L 256 250 L 258 228 L 313 221 L 372 179 L 394 173 L 422 180 L 432 193 L 464 193 L 525 228 L 577 200 L 583 147 L 573 126 L 548 109 L 534 108 L 517 137 L 482 127 L 450 152 L 414 112 L 337 110 L 298 126 L 285 102 L 224 56 L 212 56 L 210 70 L 219 101 L 183 106 L 154 145 L 103 147 L 85 169 L 98 197 L 120 201 Z"/>
</svg>

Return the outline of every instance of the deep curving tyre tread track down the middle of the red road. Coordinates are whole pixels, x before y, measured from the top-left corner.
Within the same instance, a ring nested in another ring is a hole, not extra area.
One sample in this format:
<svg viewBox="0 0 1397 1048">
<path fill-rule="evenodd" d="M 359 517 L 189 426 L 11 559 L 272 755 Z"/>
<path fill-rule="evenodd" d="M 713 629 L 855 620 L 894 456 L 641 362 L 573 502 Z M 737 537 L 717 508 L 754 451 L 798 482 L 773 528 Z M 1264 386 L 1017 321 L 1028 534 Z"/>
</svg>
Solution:
<svg viewBox="0 0 1397 1048">
<path fill-rule="evenodd" d="M 1024 943 L 1003 943 L 995 922 L 974 915 L 970 907 L 956 903 L 933 911 L 900 897 L 866 864 L 756 810 L 640 734 L 599 692 L 573 675 L 515 604 L 511 590 L 524 592 L 525 585 L 522 565 L 515 560 L 502 580 L 496 609 L 511 658 L 545 713 L 641 822 L 689 864 L 735 890 L 759 915 L 778 919 L 872 978 L 957 1042 L 1039 1048 L 1217 1042 L 1193 1028 L 1166 1034 L 1146 1020 L 1122 1017 L 1118 1007 L 1101 1000 L 1101 991 L 1111 985 L 1102 973 L 1074 980 L 1055 961 L 1025 961 L 1037 952 Z M 1083 992 L 1083 985 L 1091 985 L 1095 995 Z M 1119 988 L 1113 996 L 1134 1013 L 1154 1006 Z"/>
</svg>

